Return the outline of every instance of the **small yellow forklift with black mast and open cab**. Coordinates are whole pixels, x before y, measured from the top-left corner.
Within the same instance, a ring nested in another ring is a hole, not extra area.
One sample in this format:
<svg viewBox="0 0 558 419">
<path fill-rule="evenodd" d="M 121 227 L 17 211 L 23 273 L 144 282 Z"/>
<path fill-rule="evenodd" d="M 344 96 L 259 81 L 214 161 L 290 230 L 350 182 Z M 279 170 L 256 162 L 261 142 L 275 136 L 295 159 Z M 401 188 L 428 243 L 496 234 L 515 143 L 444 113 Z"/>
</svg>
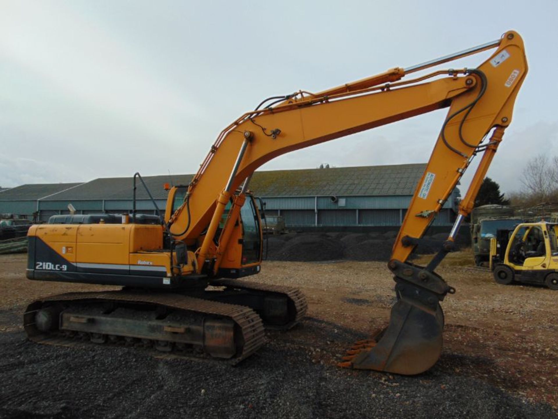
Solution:
<svg viewBox="0 0 558 419">
<path fill-rule="evenodd" d="M 558 290 L 558 224 L 521 223 L 513 230 L 498 230 L 490 243 L 494 280 L 546 285 Z"/>
</svg>

